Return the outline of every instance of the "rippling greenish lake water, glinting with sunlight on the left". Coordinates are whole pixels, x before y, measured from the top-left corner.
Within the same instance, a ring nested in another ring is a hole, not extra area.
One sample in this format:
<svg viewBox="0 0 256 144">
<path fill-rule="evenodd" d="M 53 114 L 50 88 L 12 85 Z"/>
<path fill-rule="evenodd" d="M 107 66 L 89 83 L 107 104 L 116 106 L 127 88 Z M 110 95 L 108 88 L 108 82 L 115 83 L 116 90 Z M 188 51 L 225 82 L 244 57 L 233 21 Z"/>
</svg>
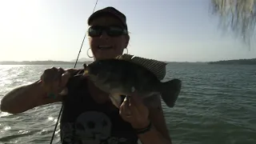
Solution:
<svg viewBox="0 0 256 144">
<path fill-rule="evenodd" d="M 14 87 L 38 80 L 48 67 L 0 66 L 0 99 Z M 171 63 L 166 80 L 170 78 L 183 82 L 176 106 L 162 104 L 174 144 L 256 143 L 256 66 Z M 0 143 L 50 143 L 60 107 L 0 112 Z M 54 143 L 59 143 L 59 130 Z"/>
</svg>

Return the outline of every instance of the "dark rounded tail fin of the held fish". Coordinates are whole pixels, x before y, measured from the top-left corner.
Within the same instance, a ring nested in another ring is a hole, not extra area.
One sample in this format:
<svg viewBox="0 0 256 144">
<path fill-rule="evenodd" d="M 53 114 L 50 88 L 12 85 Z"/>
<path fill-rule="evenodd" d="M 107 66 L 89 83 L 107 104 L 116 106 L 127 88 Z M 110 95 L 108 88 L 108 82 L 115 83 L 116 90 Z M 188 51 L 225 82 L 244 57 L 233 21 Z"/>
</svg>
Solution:
<svg viewBox="0 0 256 144">
<path fill-rule="evenodd" d="M 161 86 L 161 95 L 163 102 L 169 107 L 174 107 L 178 95 L 182 89 L 182 81 L 175 78 L 168 82 L 163 82 Z"/>
</svg>

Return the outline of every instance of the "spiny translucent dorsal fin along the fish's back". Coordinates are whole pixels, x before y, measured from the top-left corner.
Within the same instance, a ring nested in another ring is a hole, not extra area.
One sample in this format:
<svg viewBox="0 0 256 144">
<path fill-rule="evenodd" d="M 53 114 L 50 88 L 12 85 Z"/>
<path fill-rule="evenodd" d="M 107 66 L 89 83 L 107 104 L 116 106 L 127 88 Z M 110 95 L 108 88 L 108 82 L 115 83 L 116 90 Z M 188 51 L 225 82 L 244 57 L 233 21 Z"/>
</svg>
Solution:
<svg viewBox="0 0 256 144">
<path fill-rule="evenodd" d="M 123 54 L 118 55 L 117 59 L 122 59 L 130 62 L 134 62 L 140 66 L 145 67 L 147 70 L 150 70 L 155 76 L 162 80 L 166 76 L 166 62 L 160 62 L 154 59 L 134 57 L 134 55 Z"/>
</svg>

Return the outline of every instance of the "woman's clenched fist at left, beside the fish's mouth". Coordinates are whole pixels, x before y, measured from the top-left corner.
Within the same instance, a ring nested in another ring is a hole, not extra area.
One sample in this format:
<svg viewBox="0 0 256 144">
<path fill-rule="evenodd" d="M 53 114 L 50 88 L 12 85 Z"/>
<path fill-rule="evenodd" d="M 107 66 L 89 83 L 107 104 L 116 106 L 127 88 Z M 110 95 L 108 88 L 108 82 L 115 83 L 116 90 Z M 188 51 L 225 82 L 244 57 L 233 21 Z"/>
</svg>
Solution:
<svg viewBox="0 0 256 144">
<path fill-rule="evenodd" d="M 52 67 L 44 70 L 40 79 L 46 93 L 57 96 L 62 90 L 65 90 L 69 78 L 70 73 L 68 70 Z"/>
</svg>

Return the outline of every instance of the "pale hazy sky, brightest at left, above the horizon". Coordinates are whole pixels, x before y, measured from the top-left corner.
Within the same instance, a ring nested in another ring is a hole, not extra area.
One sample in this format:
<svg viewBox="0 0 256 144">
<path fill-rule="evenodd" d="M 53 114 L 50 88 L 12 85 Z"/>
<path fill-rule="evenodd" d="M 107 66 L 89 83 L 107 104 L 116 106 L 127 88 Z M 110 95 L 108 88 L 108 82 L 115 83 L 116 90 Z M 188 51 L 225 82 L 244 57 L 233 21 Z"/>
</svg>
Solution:
<svg viewBox="0 0 256 144">
<path fill-rule="evenodd" d="M 95 2 L 0 0 L 0 61 L 76 59 Z M 169 62 L 256 58 L 219 29 L 210 0 L 98 0 L 96 10 L 106 6 L 126 14 L 129 54 Z M 88 58 L 88 48 L 86 37 L 79 58 Z"/>
</svg>

